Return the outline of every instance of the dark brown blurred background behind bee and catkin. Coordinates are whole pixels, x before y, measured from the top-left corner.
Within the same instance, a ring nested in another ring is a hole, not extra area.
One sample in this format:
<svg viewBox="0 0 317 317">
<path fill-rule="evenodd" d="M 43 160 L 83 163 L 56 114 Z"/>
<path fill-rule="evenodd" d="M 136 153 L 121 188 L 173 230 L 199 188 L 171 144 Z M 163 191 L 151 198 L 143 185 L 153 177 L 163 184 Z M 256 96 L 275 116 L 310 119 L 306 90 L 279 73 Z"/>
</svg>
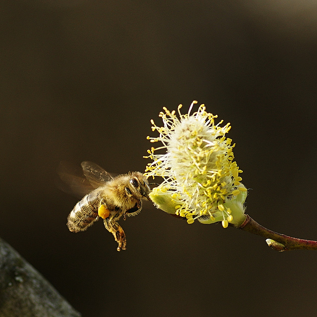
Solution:
<svg viewBox="0 0 317 317">
<path fill-rule="evenodd" d="M 317 2 L 25 0 L 0 4 L 0 236 L 83 316 L 313 316 L 317 253 L 147 204 L 70 233 L 61 160 L 144 171 L 150 119 L 204 103 L 236 143 L 247 212 L 317 239 Z"/>
</svg>

